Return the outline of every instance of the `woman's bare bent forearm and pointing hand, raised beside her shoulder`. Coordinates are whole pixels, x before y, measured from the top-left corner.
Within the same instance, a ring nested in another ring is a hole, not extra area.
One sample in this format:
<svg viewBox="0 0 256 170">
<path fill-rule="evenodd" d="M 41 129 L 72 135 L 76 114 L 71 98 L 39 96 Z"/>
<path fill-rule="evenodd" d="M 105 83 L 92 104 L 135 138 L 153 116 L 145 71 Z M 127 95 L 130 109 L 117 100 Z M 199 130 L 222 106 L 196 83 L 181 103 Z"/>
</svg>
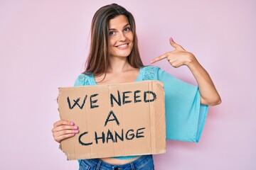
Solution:
<svg viewBox="0 0 256 170">
<path fill-rule="evenodd" d="M 151 63 L 166 59 L 169 61 L 171 66 L 175 68 L 186 65 L 191 70 L 198 83 L 198 88 L 201 94 L 201 103 L 209 106 L 220 104 L 220 95 L 215 89 L 213 81 L 210 79 L 206 69 L 201 66 L 191 52 L 184 50 L 183 47 L 176 44 L 172 38 L 170 38 L 170 44 L 175 48 L 175 50 L 166 52 L 164 55 L 156 57 L 154 60 L 151 60 Z"/>
</svg>

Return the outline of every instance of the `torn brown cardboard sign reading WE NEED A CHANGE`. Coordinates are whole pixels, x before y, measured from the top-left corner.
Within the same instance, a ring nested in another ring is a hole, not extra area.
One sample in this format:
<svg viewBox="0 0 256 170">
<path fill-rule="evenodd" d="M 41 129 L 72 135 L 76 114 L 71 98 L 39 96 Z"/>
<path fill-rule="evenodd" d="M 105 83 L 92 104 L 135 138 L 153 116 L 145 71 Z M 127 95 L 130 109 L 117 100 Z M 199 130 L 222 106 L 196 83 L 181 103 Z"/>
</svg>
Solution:
<svg viewBox="0 0 256 170">
<path fill-rule="evenodd" d="M 160 81 L 59 88 L 58 105 L 79 128 L 61 142 L 69 160 L 166 152 Z"/>
</svg>

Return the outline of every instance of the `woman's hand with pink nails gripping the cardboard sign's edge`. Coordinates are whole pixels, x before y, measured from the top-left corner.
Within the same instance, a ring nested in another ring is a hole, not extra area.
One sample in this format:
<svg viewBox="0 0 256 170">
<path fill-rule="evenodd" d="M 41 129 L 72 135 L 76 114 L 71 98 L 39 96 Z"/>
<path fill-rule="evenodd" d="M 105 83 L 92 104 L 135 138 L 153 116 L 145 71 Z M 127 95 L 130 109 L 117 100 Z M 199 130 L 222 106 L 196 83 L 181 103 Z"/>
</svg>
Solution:
<svg viewBox="0 0 256 170">
<path fill-rule="evenodd" d="M 78 126 L 75 126 L 75 123 L 73 122 L 68 120 L 58 120 L 53 124 L 52 132 L 54 140 L 60 143 L 62 140 L 75 136 L 79 130 Z"/>
</svg>

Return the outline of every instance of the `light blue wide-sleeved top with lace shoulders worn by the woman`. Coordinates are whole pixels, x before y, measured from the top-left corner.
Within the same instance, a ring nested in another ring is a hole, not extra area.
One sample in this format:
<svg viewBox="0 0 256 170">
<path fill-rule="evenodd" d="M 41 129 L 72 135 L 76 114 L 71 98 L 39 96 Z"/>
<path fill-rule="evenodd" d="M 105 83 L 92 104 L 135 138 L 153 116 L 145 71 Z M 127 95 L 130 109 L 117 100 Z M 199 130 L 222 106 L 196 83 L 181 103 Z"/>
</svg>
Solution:
<svg viewBox="0 0 256 170">
<path fill-rule="evenodd" d="M 136 81 L 159 80 L 164 83 L 166 111 L 166 140 L 199 142 L 206 121 L 208 106 L 201 105 L 198 86 L 176 79 L 159 67 L 139 69 Z M 75 86 L 97 85 L 93 75 L 80 74 Z M 132 157 L 115 157 L 132 159 Z"/>
</svg>

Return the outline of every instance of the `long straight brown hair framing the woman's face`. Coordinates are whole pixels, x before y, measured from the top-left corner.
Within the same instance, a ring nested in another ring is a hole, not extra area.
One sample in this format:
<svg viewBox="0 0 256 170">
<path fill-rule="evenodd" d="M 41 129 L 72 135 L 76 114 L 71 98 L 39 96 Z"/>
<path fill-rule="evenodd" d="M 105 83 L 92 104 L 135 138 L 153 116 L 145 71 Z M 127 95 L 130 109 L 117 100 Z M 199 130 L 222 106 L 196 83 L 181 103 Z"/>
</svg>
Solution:
<svg viewBox="0 0 256 170">
<path fill-rule="evenodd" d="M 108 24 L 112 18 L 120 15 L 127 17 L 134 36 L 132 52 L 127 58 L 128 62 L 134 68 L 144 66 L 139 55 L 136 26 L 132 13 L 122 6 L 110 4 L 98 9 L 92 18 L 90 52 L 85 63 L 84 74 L 94 74 L 95 76 L 106 74 L 110 65 Z"/>
</svg>

